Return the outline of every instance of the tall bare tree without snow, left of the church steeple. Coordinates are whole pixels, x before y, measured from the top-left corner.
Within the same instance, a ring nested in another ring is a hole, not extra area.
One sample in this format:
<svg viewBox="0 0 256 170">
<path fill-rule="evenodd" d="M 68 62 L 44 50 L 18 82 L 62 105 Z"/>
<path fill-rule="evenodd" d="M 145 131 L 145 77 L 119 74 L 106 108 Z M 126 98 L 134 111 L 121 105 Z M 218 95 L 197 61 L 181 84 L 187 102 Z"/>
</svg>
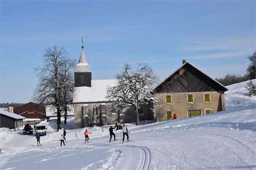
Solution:
<svg viewBox="0 0 256 170">
<path fill-rule="evenodd" d="M 52 109 L 57 110 L 58 131 L 61 129 L 61 111 L 67 103 L 72 104 L 70 96 L 72 96 L 73 90 L 68 90 L 73 89 L 73 76 L 70 73 L 75 61 L 67 56 L 64 48 L 56 45 L 45 50 L 43 60 L 44 65 L 35 68 L 39 83 L 33 98 L 37 103 L 51 105 Z"/>
</svg>

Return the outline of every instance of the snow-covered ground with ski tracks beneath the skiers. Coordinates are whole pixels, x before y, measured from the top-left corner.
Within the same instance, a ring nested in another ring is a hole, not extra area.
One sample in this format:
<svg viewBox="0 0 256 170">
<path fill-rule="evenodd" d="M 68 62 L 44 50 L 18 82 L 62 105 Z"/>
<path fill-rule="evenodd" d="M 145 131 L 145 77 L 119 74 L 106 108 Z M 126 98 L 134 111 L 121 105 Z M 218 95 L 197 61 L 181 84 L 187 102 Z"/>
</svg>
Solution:
<svg viewBox="0 0 256 170">
<path fill-rule="evenodd" d="M 256 82 L 254 80 L 254 82 Z M 37 146 L 35 134 L 0 128 L 0 169 L 97 170 L 252 170 L 256 169 L 256 101 L 247 82 L 227 86 L 227 110 L 173 121 L 127 124 L 131 141 L 109 143 L 108 128 L 73 129 L 66 125 L 67 145 L 60 147 L 56 121 L 42 122 L 47 135 Z M 62 125 L 64 127 L 64 125 Z M 77 136 L 76 136 L 77 135 Z M 113 140 L 113 139 L 112 139 Z M 126 137 L 125 137 L 126 141 Z"/>
</svg>

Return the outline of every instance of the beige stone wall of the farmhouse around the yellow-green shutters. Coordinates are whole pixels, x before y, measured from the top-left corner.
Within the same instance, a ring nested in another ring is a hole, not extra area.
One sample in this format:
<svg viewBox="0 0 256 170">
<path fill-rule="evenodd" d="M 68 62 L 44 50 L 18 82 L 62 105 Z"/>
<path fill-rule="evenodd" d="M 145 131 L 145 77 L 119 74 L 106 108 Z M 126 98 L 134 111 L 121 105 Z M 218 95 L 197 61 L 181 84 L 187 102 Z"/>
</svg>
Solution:
<svg viewBox="0 0 256 170">
<path fill-rule="evenodd" d="M 210 94 L 210 102 L 204 101 L 204 94 Z M 193 103 L 187 102 L 187 94 L 193 94 Z M 157 107 L 157 121 L 167 121 L 167 111 L 172 111 L 177 115 L 177 119 L 188 117 L 188 110 L 200 110 L 201 115 L 205 114 L 205 109 L 210 109 L 212 113 L 222 111 L 223 92 L 184 92 L 184 93 L 155 93 L 154 97 L 159 98 L 162 107 Z M 166 95 L 171 95 L 171 103 L 166 103 Z M 225 96 L 224 96 L 225 97 Z M 224 98 L 225 101 L 225 98 Z"/>
</svg>

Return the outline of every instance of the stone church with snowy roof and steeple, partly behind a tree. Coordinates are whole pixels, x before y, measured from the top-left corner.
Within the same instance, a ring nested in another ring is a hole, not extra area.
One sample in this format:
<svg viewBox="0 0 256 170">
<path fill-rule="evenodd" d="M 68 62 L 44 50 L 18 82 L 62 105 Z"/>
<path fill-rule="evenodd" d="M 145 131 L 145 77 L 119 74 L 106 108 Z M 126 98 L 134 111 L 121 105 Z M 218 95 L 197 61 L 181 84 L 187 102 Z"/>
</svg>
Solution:
<svg viewBox="0 0 256 170">
<path fill-rule="evenodd" d="M 116 79 L 92 80 L 92 71 L 84 53 L 84 47 L 75 67 L 74 125 L 75 129 L 119 123 L 136 122 L 135 111 L 129 108 L 123 113 L 110 111 L 111 101 L 105 98 L 107 88 L 117 83 Z M 139 112 L 139 120 L 153 119 L 146 108 Z"/>
</svg>

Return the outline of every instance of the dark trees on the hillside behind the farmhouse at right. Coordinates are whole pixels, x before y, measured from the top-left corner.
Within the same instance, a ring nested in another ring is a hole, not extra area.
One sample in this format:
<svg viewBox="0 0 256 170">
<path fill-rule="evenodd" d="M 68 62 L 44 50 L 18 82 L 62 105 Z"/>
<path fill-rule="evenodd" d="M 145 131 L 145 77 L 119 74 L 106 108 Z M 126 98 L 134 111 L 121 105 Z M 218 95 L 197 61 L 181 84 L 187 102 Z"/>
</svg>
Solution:
<svg viewBox="0 0 256 170">
<path fill-rule="evenodd" d="M 227 74 L 224 78 L 215 78 L 216 81 L 220 82 L 224 86 L 228 86 L 231 84 L 244 82 L 247 80 L 253 80 L 256 78 L 256 51 L 254 51 L 253 55 L 250 55 L 247 57 L 250 61 L 250 64 L 248 65 L 246 69 L 246 74 L 243 76 L 238 74 Z"/>
</svg>

